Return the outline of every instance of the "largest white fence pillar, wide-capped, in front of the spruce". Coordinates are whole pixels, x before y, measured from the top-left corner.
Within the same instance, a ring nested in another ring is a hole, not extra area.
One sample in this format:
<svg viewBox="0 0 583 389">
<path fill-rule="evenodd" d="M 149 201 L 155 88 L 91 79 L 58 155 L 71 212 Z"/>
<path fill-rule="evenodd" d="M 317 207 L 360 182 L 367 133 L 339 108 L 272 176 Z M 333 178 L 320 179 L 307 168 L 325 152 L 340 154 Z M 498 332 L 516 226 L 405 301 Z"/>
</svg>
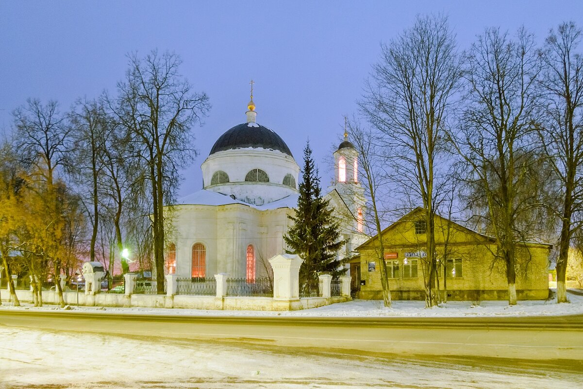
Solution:
<svg viewBox="0 0 583 389">
<path fill-rule="evenodd" d="M 299 274 L 302 262 L 304 260 L 297 254 L 279 254 L 269 260 L 273 269 L 273 299 L 300 298 Z"/>
</svg>

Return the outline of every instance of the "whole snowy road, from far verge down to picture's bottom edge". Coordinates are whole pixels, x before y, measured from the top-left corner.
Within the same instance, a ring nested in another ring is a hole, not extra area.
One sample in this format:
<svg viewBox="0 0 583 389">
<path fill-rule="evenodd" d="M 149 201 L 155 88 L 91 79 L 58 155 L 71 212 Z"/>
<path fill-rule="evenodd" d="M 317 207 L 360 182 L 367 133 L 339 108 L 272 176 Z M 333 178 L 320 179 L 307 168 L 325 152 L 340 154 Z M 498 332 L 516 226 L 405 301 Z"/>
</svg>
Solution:
<svg viewBox="0 0 583 389">
<path fill-rule="evenodd" d="M 580 317 L 559 331 L 552 318 L 486 319 L 2 312 L 0 387 L 583 388 Z"/>
</svg>

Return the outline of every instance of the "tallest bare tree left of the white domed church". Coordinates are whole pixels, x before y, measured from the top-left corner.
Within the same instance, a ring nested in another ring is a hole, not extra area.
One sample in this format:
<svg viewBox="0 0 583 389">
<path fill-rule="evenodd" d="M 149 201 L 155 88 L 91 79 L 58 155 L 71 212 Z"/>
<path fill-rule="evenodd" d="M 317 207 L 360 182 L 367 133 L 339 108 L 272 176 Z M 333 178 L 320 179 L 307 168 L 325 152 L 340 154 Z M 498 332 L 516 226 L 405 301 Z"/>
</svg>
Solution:
<svg viewBox="0 0 583 389">
<path fill-rule="evenodd" d="M 180 64 L 180 57 L 169 52 L 152 51 L 144 58 L 129 55 L 125 80 L 118 83 L 117 104 L 111 107 L 135 145 L 133 163 L 146 168 L 159 285 L 164 282 L 164 206 L 174 198 L 178 169 L 195 155 L 191 127 L 209 110 L 206 94 L 192 92 L 178 73 Z"/>
</svg>

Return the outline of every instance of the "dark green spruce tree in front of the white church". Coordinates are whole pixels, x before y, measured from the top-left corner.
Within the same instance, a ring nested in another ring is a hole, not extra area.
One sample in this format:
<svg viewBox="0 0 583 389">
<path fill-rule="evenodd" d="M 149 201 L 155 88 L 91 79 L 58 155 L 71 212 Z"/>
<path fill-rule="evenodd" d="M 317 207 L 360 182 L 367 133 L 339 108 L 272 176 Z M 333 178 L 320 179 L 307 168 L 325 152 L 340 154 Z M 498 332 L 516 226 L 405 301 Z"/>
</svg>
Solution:
<svg viewBox="0 0 583 389">
<path fill-rule="evenodd" d="M 328 272 L 338 278 L 346 273 L 346 269 L 340 268 L 345 259 L 337 259 L 336 253 L 346 241 L 340 240 L 339 224 L 332 216 L 329 201 L 322 198 L 310 142 L 304 148 L 304 169 L 299 191 L 296 214 L 287 216 L 294 225 L 283 239 L 289 246 L 287 253 L 298 254 L 304 259 L 300 267 L 300 285 L 316 280 L 320 272 Z"/>
</svg>

